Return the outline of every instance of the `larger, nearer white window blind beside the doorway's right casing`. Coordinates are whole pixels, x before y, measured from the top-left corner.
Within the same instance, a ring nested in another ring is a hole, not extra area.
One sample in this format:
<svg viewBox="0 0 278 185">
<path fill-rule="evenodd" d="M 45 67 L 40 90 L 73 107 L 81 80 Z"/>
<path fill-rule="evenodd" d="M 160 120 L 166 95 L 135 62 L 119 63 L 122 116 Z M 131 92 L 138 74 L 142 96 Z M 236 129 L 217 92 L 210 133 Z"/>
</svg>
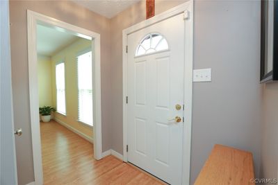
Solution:
<svg viewBox="0 0 278 185">
<path fill-rule="evenodd" d="M 77 56 L 78 117 L 82 123 L 92 123 L 92 52 Z"/>
</svg>

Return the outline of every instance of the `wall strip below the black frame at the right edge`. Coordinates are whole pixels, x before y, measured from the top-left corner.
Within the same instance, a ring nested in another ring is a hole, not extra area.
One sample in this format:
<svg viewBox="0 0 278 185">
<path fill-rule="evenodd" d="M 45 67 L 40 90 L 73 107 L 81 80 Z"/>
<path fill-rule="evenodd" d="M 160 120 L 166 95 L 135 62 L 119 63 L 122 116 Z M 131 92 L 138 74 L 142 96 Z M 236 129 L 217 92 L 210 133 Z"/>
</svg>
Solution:
<svg viewBox="0 0 278 185">
<path fill-rule="evenodd" d="M 278 171 L 278 83 L 263 88 L 261 177 L 277 179 Z"/>
</svg>

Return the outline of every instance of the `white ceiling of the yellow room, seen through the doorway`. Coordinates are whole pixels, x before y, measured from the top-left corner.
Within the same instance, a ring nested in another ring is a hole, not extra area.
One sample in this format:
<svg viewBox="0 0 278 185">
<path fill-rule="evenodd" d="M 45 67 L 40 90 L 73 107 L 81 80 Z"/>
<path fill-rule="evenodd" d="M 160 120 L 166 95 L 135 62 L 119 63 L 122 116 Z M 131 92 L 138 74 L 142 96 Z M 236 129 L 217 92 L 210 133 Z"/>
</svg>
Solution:
<svg viewBox="0 0 278 185">
<path fill-rule="evenodd" d="M 51 56 L 79 38 L 76 35 L 37 24 L 37 52 L 39 55 Z"/>
</svg>

